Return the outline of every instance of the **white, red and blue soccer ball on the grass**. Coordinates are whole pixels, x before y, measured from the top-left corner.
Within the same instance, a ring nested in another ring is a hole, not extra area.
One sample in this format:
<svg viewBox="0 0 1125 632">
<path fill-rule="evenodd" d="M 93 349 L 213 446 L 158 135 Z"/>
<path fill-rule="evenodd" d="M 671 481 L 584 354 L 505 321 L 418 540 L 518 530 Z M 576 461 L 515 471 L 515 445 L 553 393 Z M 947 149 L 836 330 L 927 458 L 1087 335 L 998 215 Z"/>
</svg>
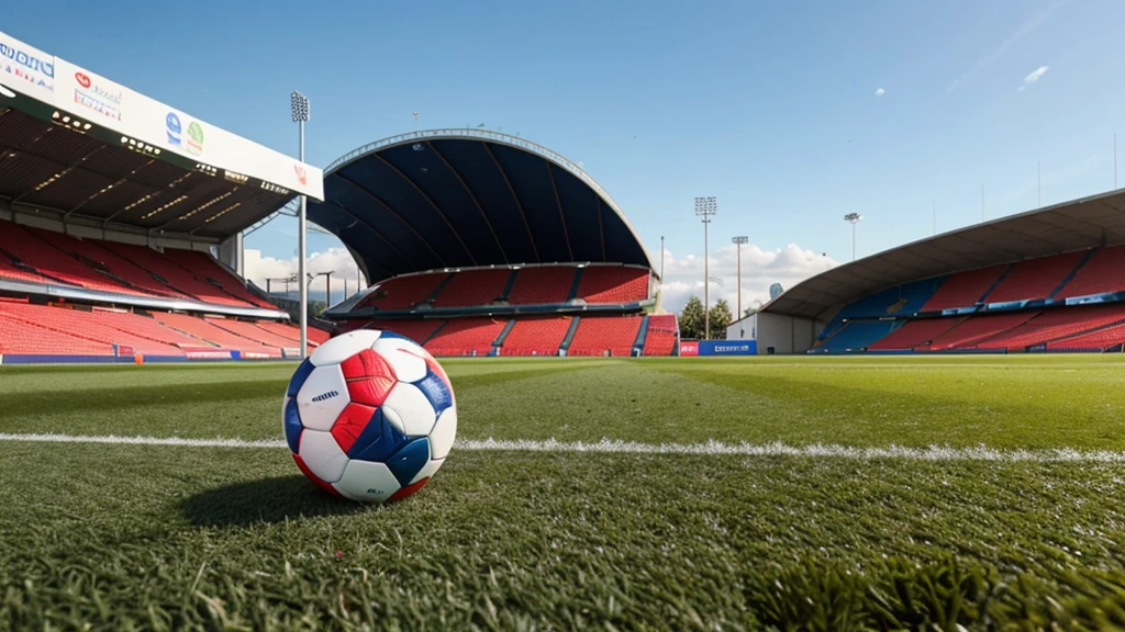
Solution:
<svg viewBox="0 0 1125 632">
<path fill-rule="evenodd" d="M 300 471 L 363 503 L 421 489 L 457 435 L 457 403 L 441 365 L 410 338 L 372 329 L 336 336 L 302 362 L 282 416 Z"/>
</svg>

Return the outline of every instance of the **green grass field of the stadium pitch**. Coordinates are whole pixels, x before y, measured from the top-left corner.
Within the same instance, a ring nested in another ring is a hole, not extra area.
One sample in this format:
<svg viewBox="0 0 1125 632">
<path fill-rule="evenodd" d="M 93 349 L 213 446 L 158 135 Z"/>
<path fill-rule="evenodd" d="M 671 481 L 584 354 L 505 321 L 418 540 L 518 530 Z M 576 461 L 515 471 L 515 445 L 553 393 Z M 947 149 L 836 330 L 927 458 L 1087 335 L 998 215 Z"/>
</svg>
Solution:
<svg viewBox="0 0 1125 632">
<path fill-rule="evenodd" d="M 0 369 L 0 630 L 1125 626 L 1119 356 L 443 364 L 461 444 L 381 507 L 17 440 L 279 441 L 294 364 Z"/>
</svg>

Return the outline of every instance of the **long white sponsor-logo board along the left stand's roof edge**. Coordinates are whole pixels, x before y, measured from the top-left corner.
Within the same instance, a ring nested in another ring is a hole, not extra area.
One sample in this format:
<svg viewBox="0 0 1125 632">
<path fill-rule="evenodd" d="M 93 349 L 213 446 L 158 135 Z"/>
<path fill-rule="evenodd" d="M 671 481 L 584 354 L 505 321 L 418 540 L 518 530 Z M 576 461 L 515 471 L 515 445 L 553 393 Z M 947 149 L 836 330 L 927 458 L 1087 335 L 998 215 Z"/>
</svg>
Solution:
<svg viewBox="0 0 1125 632">
<path fill-rule="evenodd" d="M 324 199 L 324 173 L 0 33 L 0 83 L 124 138 Z M 243 178 L 238 178 L 238 177 Z"/>
</svg>

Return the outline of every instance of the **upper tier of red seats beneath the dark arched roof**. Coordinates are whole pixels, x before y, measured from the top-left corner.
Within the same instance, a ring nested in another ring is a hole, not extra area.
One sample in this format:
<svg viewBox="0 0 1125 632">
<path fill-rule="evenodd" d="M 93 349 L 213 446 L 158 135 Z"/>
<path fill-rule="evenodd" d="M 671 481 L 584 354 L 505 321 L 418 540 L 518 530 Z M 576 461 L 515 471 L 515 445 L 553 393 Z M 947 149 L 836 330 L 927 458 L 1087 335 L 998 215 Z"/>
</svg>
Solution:
<svg viewBox="0 0 1125 632">
<path fill-rule="evenodd" d="M 578 279 L 577 290 L 575 279 Z M 612 265 L 429 272 L 379 283 L 357 309 L 411 309 L 428 303 L 439 308 L 476 307 L 498 301 L 507 305 L 556 305 L 572 298 L 588 304 L 618 305 L 647 298 L 648 283 L 648 271 Z M 511 291 L 505 296 L 510 286 Z"/>
</svg>

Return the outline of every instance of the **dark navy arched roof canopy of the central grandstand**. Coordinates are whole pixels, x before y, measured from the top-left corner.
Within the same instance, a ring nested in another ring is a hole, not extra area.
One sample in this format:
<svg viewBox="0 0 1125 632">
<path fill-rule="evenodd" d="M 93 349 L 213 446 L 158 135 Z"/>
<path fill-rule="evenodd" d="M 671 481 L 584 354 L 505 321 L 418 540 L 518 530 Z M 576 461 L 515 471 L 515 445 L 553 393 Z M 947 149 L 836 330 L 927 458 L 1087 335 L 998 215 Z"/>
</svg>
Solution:
<svg viewBox="0 0 1125 632">
<path fill-rule="evenodd" d="M 308 218 L 356 255 L 369 282 L 426 270 L 651 260 L 578 165 L 516 136 L 434 129 L 394 136 L 324 173 Z"/>
</svg>

